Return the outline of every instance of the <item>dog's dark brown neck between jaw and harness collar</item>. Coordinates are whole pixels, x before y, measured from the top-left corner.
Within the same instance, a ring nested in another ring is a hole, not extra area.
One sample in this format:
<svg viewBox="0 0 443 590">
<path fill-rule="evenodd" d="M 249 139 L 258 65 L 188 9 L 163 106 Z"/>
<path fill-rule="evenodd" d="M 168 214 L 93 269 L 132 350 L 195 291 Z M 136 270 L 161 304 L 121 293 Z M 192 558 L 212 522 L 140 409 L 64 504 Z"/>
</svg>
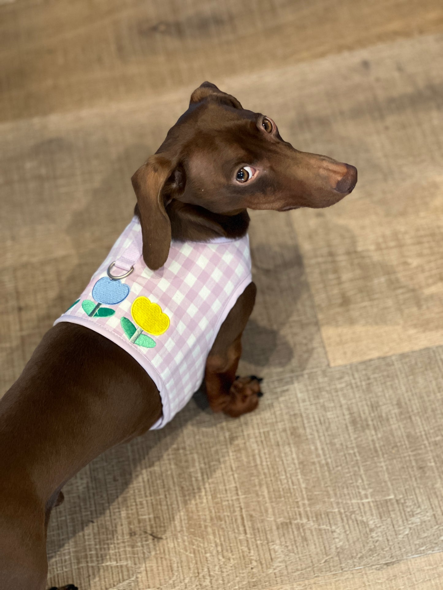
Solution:
<svg viewBox="0 0 443 590">
<path fill-rule="evenodd" d="M 222 215 L 172 199 L 166 211 L 171 221 L 172 240 L 181 242 L 207 242 L 220 237 L 236 240 L 246 235 L 249 227 L 246 209 L 232 215 Z M 134 213 L 139 215 L 138 205 Z"/>
</svg>

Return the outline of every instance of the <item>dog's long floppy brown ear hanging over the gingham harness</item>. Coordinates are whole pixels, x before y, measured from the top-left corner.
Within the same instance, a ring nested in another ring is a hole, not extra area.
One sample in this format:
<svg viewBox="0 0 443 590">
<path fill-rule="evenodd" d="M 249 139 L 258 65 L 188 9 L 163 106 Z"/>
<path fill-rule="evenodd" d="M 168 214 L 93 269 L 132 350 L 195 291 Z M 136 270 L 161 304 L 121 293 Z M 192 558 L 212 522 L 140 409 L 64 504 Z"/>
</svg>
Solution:
<svg viewBox="0 0 443 590">
<path fill-rule="evenodd" d="M 171 245 L 171 222 L 165 210 L 163 189 L 175 164 L 162 155 L 151 156 L 132 176 L 142 228 L 143 259 L 151 270 L 162 267 Z"/>
</svg>

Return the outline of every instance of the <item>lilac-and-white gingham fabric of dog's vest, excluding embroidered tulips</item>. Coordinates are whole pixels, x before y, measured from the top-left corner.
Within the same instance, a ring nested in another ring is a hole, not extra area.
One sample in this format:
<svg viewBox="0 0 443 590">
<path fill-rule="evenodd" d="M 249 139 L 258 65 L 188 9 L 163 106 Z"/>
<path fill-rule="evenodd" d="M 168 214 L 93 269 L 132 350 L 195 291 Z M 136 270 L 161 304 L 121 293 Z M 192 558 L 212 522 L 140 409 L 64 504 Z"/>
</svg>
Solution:
<svg viewBox="0 0 443 590">
<path fill-rule="evenodd" d="M 154 428 L 161 428 L 184 407 L 198 389 L 204 376 L 207 355 L 220 326 L 237 297 L 252 280 L 249 239 L 224 242 L 175 242 L 165 266 L 157 271 L 146 267 L 143 258 L 122 283 L 129 295 L 110 317 L 88 317 L 82 309 L 84 299 L 93 300 L 92 288 L 105 277 L 109 264 L 121 258 L 134 243 L 141 244 L 141 227 L 134 217 L 80 296 L 80 301 L 55 323 L 87 325 L 118 343 L 149 373 L 157 385 L 163 403 L 163 417 Z M 120 274 L 120 271 L 113 271 Z M 170 327 L 160 336 L 152 336 L 155 348 L 131 343 L 120 325 L 122 316 L 131 317 L 133 300 L 145 296 L 158 303 L 170 318 Z"/>
</svg>

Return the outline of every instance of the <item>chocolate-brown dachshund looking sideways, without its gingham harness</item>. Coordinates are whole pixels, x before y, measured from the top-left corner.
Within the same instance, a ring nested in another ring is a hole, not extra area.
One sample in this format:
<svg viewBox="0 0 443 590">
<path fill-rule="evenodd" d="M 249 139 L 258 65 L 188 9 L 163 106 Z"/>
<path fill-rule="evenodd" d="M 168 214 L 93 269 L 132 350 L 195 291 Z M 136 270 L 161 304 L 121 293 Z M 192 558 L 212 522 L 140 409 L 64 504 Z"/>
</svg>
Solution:
<svg viewBox="0 0 443 590">
<path fill-rule="evenodd" d="M 329 207 L 356 182 L 353 166 L 299 152 L 272 119 L 204 82 L 157 153 L 133 175 L 144 261 L 152 270 L 162 267 L 171 238 L 242 237 L 247 208 Z M 261 395 L 255 376 L 236 379 L 255 293 L 250 283 L 206 360 L 210 407 L 232 417 L 255 409 Z M 157 387 L 125 350 L 72 323 L 46 333 L 0 401 L 2 590 L 45 588 L 48 519 L 63 500 L 63 485 L 106 449 L 144 434 L 161 415 Z"/>
</svg>

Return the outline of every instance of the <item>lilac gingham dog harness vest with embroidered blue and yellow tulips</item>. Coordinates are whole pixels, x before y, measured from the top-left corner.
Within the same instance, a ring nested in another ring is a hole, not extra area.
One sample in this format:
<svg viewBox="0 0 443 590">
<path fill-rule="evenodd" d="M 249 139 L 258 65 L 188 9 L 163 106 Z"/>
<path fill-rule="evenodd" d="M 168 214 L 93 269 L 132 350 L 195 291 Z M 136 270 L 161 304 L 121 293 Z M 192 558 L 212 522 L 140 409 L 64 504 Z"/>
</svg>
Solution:
<svg viewBox="0 0 443 590">
<path fill-rule="evenodd" d="M 54 324 L 82 324 L 133 356 L 160 392 L 163 415 L 152 428 L 161 428 L 197 391 L 220 326 L 251 281 L 247 235 L 172 241 L 165 265 L 152 271 L 133 217 L 80 299 Z"/>
</svg>

